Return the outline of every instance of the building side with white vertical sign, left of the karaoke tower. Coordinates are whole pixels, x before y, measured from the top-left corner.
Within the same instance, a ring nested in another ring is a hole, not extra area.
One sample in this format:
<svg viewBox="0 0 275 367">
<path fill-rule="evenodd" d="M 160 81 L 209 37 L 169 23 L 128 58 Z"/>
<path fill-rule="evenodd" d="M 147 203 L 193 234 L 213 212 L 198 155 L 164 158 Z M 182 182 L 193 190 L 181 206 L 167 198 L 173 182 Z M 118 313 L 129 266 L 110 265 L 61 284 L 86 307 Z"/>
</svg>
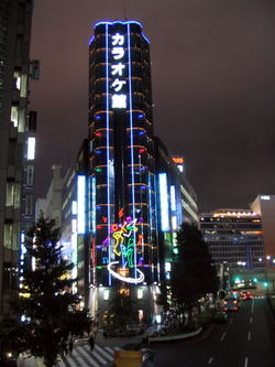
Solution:
<svg viewBox="0 0 275 367">
<path fill-rule="evenodd" d="M 64 257 L 74 262 L 72 277 L 77 278 L 73 292 L 88 306 L 89 236 L 88 236 L 88 140 L 78 151 L 76 163 L 67 170 L 62 190 L 62 245 Z"/>
</svg>

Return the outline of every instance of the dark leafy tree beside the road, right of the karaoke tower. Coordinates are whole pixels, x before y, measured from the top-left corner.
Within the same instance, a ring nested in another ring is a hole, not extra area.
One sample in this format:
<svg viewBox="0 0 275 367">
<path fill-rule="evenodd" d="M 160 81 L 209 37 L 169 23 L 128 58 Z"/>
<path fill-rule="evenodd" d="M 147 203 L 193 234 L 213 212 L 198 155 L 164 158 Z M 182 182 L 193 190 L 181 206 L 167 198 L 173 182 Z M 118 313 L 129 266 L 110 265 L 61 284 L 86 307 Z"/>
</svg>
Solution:
<svg viewBox="0 0 275 367">
<path fill-rule="evenodd" d="M 218 277 L 202 235 L 184 223 L 177 234 L 178 258 L 172 267 L 172 296 L 180 311 L 191 309 L 207 293 L 218 291 Z"/>
</svg>

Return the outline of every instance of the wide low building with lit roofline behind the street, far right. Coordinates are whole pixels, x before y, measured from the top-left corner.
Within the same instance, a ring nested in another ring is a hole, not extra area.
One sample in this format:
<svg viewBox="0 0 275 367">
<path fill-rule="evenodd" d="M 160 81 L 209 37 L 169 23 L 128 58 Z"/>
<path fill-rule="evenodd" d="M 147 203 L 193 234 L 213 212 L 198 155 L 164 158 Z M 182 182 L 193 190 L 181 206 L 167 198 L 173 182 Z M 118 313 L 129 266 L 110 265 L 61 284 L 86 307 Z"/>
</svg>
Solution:
<svg viewBox="0 0 275 367">
<path fill-rule="evenodd" d="M 262 218 L 251 209 L 218 209 L 201 214 L 200 230 L 217 265 L 232 274 L 263 274 Z"/>
</svg>

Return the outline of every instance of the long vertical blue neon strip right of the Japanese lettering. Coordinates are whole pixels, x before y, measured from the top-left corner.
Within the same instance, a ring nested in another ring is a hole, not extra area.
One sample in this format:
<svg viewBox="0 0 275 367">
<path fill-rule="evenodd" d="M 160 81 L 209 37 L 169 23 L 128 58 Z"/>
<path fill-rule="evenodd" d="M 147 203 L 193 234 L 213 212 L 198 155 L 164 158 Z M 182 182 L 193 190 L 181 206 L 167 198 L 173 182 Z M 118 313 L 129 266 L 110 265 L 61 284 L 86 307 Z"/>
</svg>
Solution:
<svg viewBox="0 0 275 367">
<path fill-rule="evenodd" d="M 132 106 L 132 65 L 131 65 L 131 44 L 130 44 L 130 23 L 128 22 L 127 25 L 128 29 L 128 78 L 129 78 L 129 117 L 130 117 L 130 145 L 131 145 L 131 176 L 132 176 L 132 205 L 133 205 L 133 220 L 135 219 L 135 199 L 134 199 L 134 152 L 133 152 L 133 145 L 134 145 L 134 137 L 133 137 L 133 106 Z M 134 277 L 138 278 L 136 272 L 136 241 L 135 241 L 135 234 L 134 234 Z"/>
</svg>

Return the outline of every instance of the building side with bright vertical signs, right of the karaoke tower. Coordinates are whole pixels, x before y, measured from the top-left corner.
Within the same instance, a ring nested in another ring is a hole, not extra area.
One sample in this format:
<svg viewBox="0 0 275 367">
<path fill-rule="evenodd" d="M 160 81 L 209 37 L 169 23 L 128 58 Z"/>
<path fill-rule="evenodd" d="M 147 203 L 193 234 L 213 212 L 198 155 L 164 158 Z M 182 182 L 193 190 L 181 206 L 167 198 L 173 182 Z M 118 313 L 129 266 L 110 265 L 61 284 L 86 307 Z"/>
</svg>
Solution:
<svg viewBox="0 0 275 367">
<path fill-rule="evenodd" d="M 161 280 L 170 279 L 170 263 L 178 253 L 177 231 L 184 222 L 198 225 L 197 195 L 184 174 L 183 156 L 170 156 L 155 138 L 157 242 Z"/>
</svg>

